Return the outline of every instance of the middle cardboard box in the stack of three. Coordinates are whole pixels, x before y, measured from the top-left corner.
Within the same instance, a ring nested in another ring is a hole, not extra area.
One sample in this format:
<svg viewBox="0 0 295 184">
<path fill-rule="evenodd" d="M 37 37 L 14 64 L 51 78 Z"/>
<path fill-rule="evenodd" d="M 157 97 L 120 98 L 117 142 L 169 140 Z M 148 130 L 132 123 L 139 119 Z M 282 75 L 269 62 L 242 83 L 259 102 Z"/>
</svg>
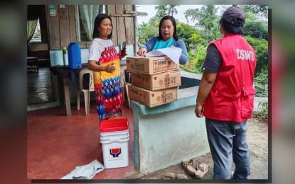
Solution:
<svg viewBox="0 0 295 184">
<path fill-rule="evenodd" d="M 132 73 L 132 84 L 151 91 L 174 88 L 181 86 L 181 71 L 166 71 L 153 75 Z"/>
</svg>

